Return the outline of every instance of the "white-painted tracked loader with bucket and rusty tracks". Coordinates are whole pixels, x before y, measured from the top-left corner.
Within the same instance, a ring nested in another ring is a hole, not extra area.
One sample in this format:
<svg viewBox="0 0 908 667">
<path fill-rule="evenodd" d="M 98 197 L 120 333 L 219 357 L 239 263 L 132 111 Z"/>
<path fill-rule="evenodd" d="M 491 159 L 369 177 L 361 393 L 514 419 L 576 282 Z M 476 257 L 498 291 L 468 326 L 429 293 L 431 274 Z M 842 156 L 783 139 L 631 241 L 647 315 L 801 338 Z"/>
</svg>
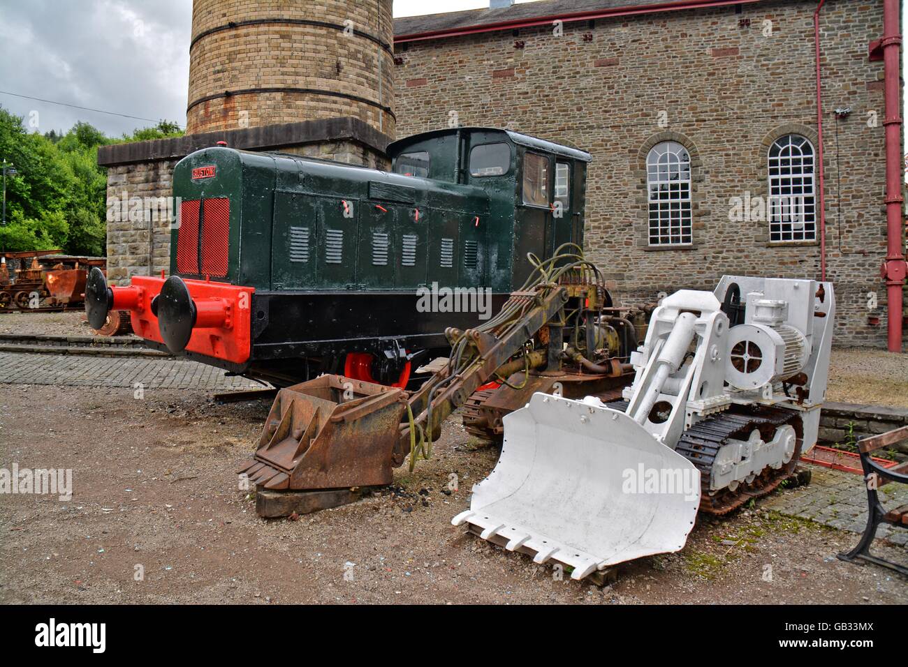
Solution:
<svg viewBox="0 0 908 667">
<path fill-rule="evenodd" d="M 816 444 L 833 318 L 832 284 L 814 280 L 666 297 L 625 400 L 534 394 L 452 523 L 574 579 L 682 549 L 698 510 L 770 493 Z"/>
</svg>

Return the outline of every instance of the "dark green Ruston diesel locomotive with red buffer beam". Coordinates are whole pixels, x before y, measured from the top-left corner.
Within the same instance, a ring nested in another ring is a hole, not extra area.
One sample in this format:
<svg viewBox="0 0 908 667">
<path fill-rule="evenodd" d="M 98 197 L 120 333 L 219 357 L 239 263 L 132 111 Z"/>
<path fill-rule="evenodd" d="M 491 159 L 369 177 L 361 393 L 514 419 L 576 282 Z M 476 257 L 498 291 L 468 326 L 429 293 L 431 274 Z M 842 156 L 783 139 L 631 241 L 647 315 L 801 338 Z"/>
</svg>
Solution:
<svg viewBox="0 0 908 667">
<path fill-rule="evenodd" d="M 388 154 L 391 172 L 193 152 L 173 172 L 170 277 L 108 287 L 93 271 L 89 321 L 128 309 L 150 346 L 281 386 L 329 372 L 402 387 L 447 355 L 446 328 L 475 326 L 481 299 L 495 312 L 520 288 L 532 256 L 582 245 L 587 152 L 459 127 Z"/>
</svg>

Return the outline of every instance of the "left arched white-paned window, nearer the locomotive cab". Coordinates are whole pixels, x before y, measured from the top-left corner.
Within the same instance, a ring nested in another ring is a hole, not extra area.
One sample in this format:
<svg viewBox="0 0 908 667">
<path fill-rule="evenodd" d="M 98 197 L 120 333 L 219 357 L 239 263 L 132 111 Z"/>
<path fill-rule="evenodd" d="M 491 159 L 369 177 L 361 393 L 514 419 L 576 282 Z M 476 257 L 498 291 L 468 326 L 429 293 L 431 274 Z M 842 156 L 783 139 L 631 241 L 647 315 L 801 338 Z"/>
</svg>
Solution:
<svg viewBox="0 0 908 667">
<path fill-rule="evenodd" d="M 678 142 L 659 142 L 646 155 L 649 245 L 691 243 L 690 154 Z"/>
</svg>

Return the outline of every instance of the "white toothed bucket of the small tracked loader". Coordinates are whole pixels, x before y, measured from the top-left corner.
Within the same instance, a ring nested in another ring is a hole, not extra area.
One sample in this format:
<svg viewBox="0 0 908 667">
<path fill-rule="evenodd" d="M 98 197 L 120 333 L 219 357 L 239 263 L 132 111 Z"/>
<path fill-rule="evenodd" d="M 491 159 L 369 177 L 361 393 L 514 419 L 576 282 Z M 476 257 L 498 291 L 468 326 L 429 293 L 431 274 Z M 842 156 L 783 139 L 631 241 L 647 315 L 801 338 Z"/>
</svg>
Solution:
<svg viewBox="0 0 908 667">
<path fill-rule="evenodd" d="M 573 579 L 676 552 L 694 527 L 700 474 L 619 410 L 534 394 L 504 418 L 498 465 L 473 486 L 469 524 L 509 551 L 574 568 Z"/>
</svg>

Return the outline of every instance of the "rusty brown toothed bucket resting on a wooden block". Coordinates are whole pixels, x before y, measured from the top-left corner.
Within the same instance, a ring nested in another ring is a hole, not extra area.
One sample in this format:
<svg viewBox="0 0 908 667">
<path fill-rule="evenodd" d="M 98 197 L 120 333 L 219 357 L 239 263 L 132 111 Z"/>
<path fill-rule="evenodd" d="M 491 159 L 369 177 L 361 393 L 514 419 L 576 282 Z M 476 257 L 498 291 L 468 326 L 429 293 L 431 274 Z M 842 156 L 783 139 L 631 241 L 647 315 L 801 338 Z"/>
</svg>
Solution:
<svg viewBox="0 0 908 667">
<path fill-rule="evenodd" d="M 342 376 L 325 375 L 281 389 L 254 459 L 239 473 L 260 491 L 388 485 L 406 409 L 401 389 Z"/>
</svg>

